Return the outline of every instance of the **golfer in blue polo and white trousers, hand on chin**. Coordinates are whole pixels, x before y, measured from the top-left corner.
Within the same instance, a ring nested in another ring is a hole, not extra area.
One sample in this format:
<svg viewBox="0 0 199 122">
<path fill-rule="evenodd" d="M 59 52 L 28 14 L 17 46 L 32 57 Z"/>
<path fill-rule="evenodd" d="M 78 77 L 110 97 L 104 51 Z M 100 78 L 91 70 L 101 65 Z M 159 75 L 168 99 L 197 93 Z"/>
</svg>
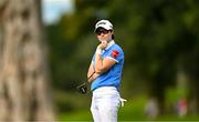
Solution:
<svg viewBox="0 0 199 122">
<path fill-rule="evenodd" d="M 114 41 L 113 24 L 101 20 L 95 24 L 95 33 L 101 42 L 88 68 L 93 92 L 91 111 L 94 122 L 117 122 L 121 103 L 119 84 L 124 64 L 124 52 Z"/>
</svg>

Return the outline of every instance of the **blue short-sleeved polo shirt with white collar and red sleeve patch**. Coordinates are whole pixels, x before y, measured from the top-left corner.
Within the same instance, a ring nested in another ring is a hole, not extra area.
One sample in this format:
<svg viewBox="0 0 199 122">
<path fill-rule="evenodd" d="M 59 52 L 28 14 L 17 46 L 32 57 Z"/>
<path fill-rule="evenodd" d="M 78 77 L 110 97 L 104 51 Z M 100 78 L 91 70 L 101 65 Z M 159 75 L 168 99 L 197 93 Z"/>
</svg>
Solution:
<svg viewBox="0 0 199 122">
<path fill-rule="evenodd" d="M 111 41 L 109 43 L 111 45 L 103 50 L 102 58 L 109 58 L 112 60 L 115 60 L 117 63 L 92 82 L 92 91 L 100 87 L 115 87 L 119 91 L 122 70 L 124 64 L 124 52 L 122 48 L 114 41 Z M 95 54 L 93 55 L 92 61 L 93 68 L 95 70 Z"/>
</svg>

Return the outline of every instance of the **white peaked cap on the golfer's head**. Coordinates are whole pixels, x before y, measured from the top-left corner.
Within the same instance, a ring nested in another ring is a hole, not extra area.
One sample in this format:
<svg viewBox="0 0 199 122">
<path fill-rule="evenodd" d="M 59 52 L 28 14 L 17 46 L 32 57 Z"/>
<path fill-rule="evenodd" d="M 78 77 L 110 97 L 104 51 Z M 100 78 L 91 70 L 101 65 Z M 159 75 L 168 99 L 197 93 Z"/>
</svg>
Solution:
<svg viewBox="0 0 199 122">
<path fill-rule="evenodd" d="M 108 21 L 108 20 L 101 20 L 98 21 L 96 24 L 95 24 L 95 31 L 98 29 L 98 28 L 104 28 L 106 30 L 113 30 L 113 24 Z M 95 32 L 94 31 L 94 32 Z"/>
</svg>

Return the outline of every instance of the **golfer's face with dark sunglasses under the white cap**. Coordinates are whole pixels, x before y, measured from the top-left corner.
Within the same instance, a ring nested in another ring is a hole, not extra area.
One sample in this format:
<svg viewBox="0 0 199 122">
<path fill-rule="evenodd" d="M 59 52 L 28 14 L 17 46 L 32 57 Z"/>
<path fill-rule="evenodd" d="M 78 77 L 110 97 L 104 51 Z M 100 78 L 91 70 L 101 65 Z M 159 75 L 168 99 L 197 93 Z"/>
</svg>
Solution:
<svg viewBox="0 0 199 122">
<path fill-rule="evenodd" d="M 112 37 L 112 31 L 101 29 L 96 31 L 97 38 L 100 41 L 108 40 Z"/>
</svg>

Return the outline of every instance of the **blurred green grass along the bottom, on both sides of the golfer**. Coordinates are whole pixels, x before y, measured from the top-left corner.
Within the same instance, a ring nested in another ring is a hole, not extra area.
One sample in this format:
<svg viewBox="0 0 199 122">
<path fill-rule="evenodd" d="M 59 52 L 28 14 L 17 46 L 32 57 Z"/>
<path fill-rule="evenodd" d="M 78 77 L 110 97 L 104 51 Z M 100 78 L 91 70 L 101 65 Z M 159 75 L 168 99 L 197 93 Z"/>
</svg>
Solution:
<svg viewBox="0 0 199 122">
<path fill-rule="evenodd" d="M 118 122 L 124 121 L 153 121 L 146 118 L 144 114 L 144 106 L 146 103 L 147 96 L 138 96 L 132 100 L 128 100 L 125 103 L 125 106 L 119 108 L 118 112 Z M 199 115 L 188 115 L 185 118 L 179 118 L 175 113 L 166 114 L 156 119 L 156 121 L 196 121 L 199 120 Z M 90 108 L 87 110 L 74 111 L 67 113 L 59 114 L 59 121 L 86 121 L 92 122 L 92 114 L 90 112 Z"/>
</svg>

